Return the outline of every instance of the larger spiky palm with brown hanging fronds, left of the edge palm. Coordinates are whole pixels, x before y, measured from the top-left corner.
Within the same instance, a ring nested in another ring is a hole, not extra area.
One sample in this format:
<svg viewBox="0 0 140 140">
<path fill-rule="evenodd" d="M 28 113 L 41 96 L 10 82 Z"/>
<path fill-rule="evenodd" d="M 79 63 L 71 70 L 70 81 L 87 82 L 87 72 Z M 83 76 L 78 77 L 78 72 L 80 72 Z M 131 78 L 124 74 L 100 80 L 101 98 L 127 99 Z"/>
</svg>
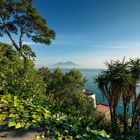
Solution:
<svg viewBox="0 0 140 140">
<path fill-rule="evenodd" d="M 106 62 L 106 65 L 108 69 L 99 74 L 95 78 L 95 82 L 102 91 L 103 96 L 108 100 L 112 125 L 116 124 L 116 107 L 122 97 L 124 106 L 123 126 L 124 130 L 126 130 L 127 108 L 131 99 L 129 87 L 133 85 L 133 78 L 129 74 L 128 62 L 125 62 L 125 59 L 122 62 L 119 60 L 111 61 L 110 63 Z"/>
</svg>

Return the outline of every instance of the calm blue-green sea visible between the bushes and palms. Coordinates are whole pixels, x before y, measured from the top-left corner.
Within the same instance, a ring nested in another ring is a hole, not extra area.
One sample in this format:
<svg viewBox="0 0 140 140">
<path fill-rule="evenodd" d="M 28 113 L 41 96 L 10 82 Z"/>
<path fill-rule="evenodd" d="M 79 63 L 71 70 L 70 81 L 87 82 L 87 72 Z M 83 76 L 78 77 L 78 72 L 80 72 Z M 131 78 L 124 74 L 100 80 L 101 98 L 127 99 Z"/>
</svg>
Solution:
<svg viewBox="0 0 140 140">
<path fill-rule="evenodd" d="M 61 69 L 64 73 L 69 72 L 72 69 Z M 86 78 L 87 82 L 85 84 L 85 89 L 87 91 L 90 91 L 95 94 L 96 100 L 98 103 L 102 104 L 108 104 L 107 100 L 103 97 L 102 92 L 100 89 L 97 87 L 97 85 L 94 82 L 94 78 L 100 74 L 102 71 L 105 69 L 77 69 L 81 72 L 82 76 Z M 140 93 L 140 85 L 137 86 L 137 94 Z M 123 110 L 123 104 L 122 101 L 118 103 L 117 110 L 119 112 L 122 112 Z M 130 103 L 130 112 L 132 110 L 132 103 Z"/>
</svg>

